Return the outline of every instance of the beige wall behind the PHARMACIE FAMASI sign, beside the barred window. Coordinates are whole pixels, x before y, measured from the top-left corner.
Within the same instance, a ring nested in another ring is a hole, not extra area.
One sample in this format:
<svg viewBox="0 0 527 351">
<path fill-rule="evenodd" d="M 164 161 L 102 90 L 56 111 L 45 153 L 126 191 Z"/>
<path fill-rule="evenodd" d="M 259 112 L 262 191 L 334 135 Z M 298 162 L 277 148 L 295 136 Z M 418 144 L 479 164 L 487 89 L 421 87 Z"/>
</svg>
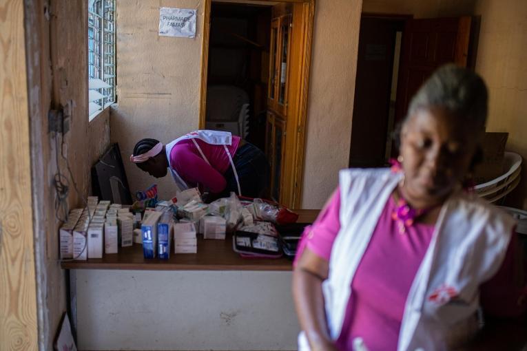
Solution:
<svg viewBox="0 0 527 351">
<path fill-rule="evenodd" d="M 196 38 L 159 36 L 160 7 L 197 8 Z M 198 0 L 117 1 L 118 107 L 110 124 L 132 191 L 156 182 L 162 197 L 175 194 L 169 175 L 156 180 L 128 160 L 142 138 L 166 143 L 198 129 L 203 11 Z"/>
</svg>

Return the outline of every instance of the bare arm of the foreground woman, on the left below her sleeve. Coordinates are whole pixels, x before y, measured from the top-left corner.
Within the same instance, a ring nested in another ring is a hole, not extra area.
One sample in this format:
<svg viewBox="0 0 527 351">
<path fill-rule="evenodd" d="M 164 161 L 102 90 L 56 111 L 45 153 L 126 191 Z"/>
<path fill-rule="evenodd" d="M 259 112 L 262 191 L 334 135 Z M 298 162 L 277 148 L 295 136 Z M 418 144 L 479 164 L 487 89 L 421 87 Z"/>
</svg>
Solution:
<svg viewBox="0 0 527 351">
<path fill-rule="evenodd" d="M 328 275 L 327 260 L 305 248 L 293 270 L 293 299 L 300 326 L 311 350 L 336 350 L 329 335 L 322 281 Z"/>
</svg>

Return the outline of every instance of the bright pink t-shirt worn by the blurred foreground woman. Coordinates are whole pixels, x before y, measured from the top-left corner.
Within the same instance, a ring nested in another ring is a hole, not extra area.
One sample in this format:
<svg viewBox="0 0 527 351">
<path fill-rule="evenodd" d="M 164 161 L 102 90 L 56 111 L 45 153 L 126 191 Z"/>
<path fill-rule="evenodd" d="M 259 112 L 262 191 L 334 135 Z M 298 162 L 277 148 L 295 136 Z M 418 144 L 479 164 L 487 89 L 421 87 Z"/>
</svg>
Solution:
<svg viewBox="0 0 527 351">
<path fill-rule="evenodd" d="M 390 197 L 351 282 L 351 297 L 336 341 L 340 350 L 353 350 L 355 337 L 361 337 L 369 351 L 397 349 L 406 297 L 430 244 L 434 226 L 416 223 L 401 235 L 391 217 L 393 209 L 395 201 Z M 333 241 L 340 230 L 339 210 L 337 190 L 313 226 L 304 231 L 297 259 L 307 247 L 329 261 Z M 519 315 L 526 307 L 517 304 L 518 289 L 513 287 L 512 279 L 504 279 L 515 270 L 514 245 L 515 240 L 511 240 L 499 272 L 481 287 L 484 310 L 497 317 Z M 491 298 L 495 296 L 502 299 Z"/>
</svg>

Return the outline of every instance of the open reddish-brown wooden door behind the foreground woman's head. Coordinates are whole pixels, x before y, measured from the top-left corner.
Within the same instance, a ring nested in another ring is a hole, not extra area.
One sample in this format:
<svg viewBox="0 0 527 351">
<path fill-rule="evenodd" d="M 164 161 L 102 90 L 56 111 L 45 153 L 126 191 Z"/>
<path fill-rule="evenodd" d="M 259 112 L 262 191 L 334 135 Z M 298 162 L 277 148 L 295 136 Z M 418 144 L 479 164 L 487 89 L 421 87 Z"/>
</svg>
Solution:
<svg viewBox="0 0 527 351">
<path fill-rule="evenodd" d="M 445 63 L 466 67 L 471 22 L 471 17 L 406 21 L 397 83 L 395 123 L 404 119 L 412 96 L 437 67 Z"/>
</svg>

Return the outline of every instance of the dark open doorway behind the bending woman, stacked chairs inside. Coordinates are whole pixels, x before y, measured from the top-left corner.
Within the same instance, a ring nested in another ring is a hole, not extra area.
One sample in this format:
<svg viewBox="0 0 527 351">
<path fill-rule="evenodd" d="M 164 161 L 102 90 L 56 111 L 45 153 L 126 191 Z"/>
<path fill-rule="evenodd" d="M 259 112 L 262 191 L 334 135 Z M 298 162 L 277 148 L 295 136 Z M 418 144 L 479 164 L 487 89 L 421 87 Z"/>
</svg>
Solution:
<svg viewBox="0 0 527 351">
<path fill-rule="evenodd" d="M 265 150 L 271 6 L 211 3 L 205 128 Z"/>
</svg>

